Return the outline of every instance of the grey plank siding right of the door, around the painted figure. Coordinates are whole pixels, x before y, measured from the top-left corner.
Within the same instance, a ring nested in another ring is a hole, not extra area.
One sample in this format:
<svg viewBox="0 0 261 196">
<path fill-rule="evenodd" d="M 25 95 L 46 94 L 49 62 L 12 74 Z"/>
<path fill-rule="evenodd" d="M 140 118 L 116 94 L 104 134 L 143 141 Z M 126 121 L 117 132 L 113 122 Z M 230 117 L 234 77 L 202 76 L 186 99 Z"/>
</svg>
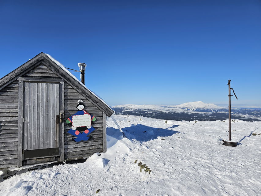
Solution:
<svg viewBox="0 0 261 196">
<path fill-rule="evenodd" d="M 81 99 L 86 106 L 86 110 L 89 114 L 96 118 L 95 122 L 91 125 L 95 130 L 90 134 L 93 138 L 90 141 L 75 142 L 72 138 L 76 138 L 67 131 L 71 126 L 65 123 L 64 129 L 64 153 L 65 159 L 80 159 L 91 156 L 93 153 L 103 152 L 103 112 L 99 110 L 89 100 L 85 99 L 79 92 L 67 83 L 64 85 L 64 115 L 65 121 L 71 115 L 75 114 L 77 101 Z"/>
</svg>

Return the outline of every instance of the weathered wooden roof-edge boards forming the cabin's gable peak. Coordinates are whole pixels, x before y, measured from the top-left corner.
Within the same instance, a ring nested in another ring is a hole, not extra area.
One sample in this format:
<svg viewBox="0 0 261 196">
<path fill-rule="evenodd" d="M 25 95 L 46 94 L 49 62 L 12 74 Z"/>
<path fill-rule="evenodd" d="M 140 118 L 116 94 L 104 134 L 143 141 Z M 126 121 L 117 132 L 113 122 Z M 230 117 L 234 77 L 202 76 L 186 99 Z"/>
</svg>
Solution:
<svg viewBox="0 0 261 196">
<path fill-rule="evenodd" d="M 6 76 L 2 77 L 0 79 L 0 90 L 9 85 L 11 82 L 17 80 L 20 76 L 24 75 L 28 71 L 32 70 L 39 64 L 43 63 L 45 66 L 47 66 L 50 70 L 52 70 L 55 74 L 57 74 L 59 77 L 61 77 L 63 80 L 65 80 L 69 85 L 74 86 L 76 91 L 78 91 L 80 94 L 82 94 L 86 99 L 90 100 L 95 106 L 97 106 L 101 111 L 103 111 L 107 116 L 113 115 L 114 111 L 105 103 L 103 103 L 102 100 L 99 99 L 99 97 L 95 96 L 89 89 L 84 87 L 79 83 L 79 81 L 76 81 L 75 78 L 70 76 L 68 73 L 66 73 L 65 70 L 63 70 L 60 66 L 58 66 L 54 61 L 52 61 L 47 55 L 45 55 L 43 52 L 36 55 L 34 58 L 30 59 L 28 62 L 24 63 L 17 69 L 13 70 Z"/>
</svg>

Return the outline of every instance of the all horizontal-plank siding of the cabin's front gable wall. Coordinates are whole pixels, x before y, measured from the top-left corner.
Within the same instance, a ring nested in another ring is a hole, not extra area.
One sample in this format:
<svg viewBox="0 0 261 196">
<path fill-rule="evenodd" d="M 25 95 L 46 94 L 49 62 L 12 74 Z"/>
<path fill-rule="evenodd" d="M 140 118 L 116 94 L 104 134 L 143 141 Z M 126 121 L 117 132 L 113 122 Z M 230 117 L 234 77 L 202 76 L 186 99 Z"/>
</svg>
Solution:
<svg viewBox="0 0 261 196">
<path fill-rule="evenodd" d="M 22 77 L 35 78 L 57 78 L 60 79 L 51 69 L 41 63 Z M 98 107 L 96 107 L 90 100 L 82 96 L 76 91 L 72 85 L 64 82 L 64 159 L 73 160 L 87 158 L 96 152 L 106 151 L 103 144 L 104 133 L 106 126 L 104 126 L 105 114 Z M 90 141 L 75 142 L 73 135 L 68 134 L 70 125 L 66 123 L 66 119 L 75 114 L 77 101 L 81 99 L 86 106 L 84 110 L 96 118 L 92 122 L 95 130 L 90 134 L 92 138 Z M 106 124 L 106 122 L 105 122 Z M 104 128 L 105 127 L 105 128 Z M 61 127 L 62 128 L 62 127 Z M 16 167 L 17 166 L 17 148 L 18 148 L 18 81 L 13 81 L 0 91 L 0 168 Z M 22 165 L 47 163 L 52 161 L 59 161 L 56 157 L 47 157 L 39 159 L 24 160 Z"/>
</svg>

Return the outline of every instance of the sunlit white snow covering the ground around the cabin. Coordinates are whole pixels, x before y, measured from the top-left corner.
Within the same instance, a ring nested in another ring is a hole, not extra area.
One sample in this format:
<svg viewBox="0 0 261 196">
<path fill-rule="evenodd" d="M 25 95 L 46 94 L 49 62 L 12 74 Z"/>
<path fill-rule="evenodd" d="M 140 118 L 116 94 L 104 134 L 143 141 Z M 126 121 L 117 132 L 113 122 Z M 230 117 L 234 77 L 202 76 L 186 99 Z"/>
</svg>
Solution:
<svg viewBox="0 0 261 196">
<path fill-rule="evenodd" d="M 1 196 L 261 195 L 261 122 L 233 121 L 232 138 L 241 144 L 228 147 L 228 120 L 114 118 L 131 141 L 108 119 L 106 153 L 13 176 L 0 183 Z M 140 173 L 139 161 L 151 174 Z"/>
</svg>

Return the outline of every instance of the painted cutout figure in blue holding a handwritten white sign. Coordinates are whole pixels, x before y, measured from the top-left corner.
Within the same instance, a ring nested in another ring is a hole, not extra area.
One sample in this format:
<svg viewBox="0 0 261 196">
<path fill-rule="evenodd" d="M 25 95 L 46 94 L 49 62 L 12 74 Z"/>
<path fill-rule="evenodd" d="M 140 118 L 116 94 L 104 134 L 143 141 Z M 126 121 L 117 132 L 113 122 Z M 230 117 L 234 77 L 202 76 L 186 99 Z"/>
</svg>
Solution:
<svg viewBox="0 0 261 196">
<path fill-rule="evenodd" d="M 91 138 L 89 134 L 95 129 L 91 126 L 91 122 L 95 121 L 96 118 L 93 115 L 90 115 L 87 111 L 84 110 L 85 105 L 82 100 L 78 100 L 78 105 L 76 108 L 79 110 L 74 115 L 70 116 L 66 123 L 72 125 L 71 129 L 67 132 L 76 136 L 72 141 L 87 141 Z"/>
</svg>

